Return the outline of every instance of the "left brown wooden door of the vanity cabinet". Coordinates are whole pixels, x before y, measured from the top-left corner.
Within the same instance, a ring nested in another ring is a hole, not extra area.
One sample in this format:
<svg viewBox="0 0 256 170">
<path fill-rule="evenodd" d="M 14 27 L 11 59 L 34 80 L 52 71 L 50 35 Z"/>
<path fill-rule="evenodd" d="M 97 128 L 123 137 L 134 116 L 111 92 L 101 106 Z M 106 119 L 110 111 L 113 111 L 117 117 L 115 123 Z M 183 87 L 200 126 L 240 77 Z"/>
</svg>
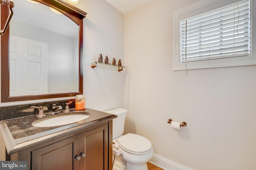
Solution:
<svg viewBox="0 0 256 170">
<path fill-rule="evenodd" d="M 32 151 L 32 170 L 79 170 L 79 135 Z"/>
</svg>

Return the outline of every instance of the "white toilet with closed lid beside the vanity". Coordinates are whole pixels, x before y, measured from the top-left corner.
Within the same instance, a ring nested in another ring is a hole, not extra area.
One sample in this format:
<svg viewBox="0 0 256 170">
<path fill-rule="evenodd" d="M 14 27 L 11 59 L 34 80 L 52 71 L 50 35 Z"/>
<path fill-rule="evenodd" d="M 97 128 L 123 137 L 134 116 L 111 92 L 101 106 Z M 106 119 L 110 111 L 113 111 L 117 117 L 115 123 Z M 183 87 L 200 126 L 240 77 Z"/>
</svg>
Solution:
<svg viewBox="0 0 256 170">
<path fill-rule="evenodd" d="M 123 135 L 126 109 L 118 108 L 105 112 L 118 116 L 113 119 L 113 142 L 119 145 L 122 152 L 115 157 L 113 170 L 148 170 L 147 162 L 154 155 L 150 141 L 133 133 Z"/>
</svg>

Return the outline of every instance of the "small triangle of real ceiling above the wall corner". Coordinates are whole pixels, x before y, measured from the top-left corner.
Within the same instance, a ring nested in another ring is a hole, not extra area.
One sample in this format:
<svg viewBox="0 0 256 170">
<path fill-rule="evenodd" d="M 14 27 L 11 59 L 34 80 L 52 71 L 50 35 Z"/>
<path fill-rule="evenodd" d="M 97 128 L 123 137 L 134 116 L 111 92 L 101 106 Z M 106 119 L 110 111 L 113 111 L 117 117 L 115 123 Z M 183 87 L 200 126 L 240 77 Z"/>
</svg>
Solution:
<svg viewBox="0 0 256 170">
<path fill-rule="evenodd" d="M 150 2 L 153 2 L 154 0 L 106 0 L 106 1 L 110 3 L 112 6 L 114 6 L 115 8 L 117 8 L 122 13 L 127 14 L 129 12 L 132 12 L 133 10 L 136 10 L 141 6 L 144 6 L 146 4 L 149 4 Z"/>
</svg>

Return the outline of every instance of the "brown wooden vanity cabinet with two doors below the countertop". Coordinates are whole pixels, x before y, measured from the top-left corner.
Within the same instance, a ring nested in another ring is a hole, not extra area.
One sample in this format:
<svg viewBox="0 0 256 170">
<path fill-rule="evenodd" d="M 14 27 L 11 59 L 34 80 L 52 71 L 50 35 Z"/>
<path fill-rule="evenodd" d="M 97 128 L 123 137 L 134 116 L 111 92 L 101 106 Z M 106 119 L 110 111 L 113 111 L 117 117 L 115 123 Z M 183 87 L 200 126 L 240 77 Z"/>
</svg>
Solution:
<svg viewBox="0 0 256 170">
<path fill-rule="evenodd" d="M 112 120 L 109 122 L 18 152 L 18 160 L 27 160 L 30 170 L 112 170 Z"/>
</svg>

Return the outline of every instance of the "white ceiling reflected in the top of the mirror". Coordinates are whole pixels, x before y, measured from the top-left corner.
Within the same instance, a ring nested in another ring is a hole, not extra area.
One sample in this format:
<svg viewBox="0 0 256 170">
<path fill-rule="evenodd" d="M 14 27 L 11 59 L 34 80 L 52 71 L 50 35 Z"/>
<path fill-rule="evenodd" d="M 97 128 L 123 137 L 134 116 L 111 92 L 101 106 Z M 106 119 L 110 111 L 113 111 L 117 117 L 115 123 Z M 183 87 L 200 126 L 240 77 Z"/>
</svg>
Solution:
<svg viewBox="0 0 256 170">
<path fill-rule="evenodd" d="M 68 37 L 78 37 L 78 25 L 65 15 L 56 14 L 48 6 L 34 4 L 27 0 L 12 0 L 12 2 L 15 8 L 10 25 L 13 21 L 20 21 Z"/>
</svg>

